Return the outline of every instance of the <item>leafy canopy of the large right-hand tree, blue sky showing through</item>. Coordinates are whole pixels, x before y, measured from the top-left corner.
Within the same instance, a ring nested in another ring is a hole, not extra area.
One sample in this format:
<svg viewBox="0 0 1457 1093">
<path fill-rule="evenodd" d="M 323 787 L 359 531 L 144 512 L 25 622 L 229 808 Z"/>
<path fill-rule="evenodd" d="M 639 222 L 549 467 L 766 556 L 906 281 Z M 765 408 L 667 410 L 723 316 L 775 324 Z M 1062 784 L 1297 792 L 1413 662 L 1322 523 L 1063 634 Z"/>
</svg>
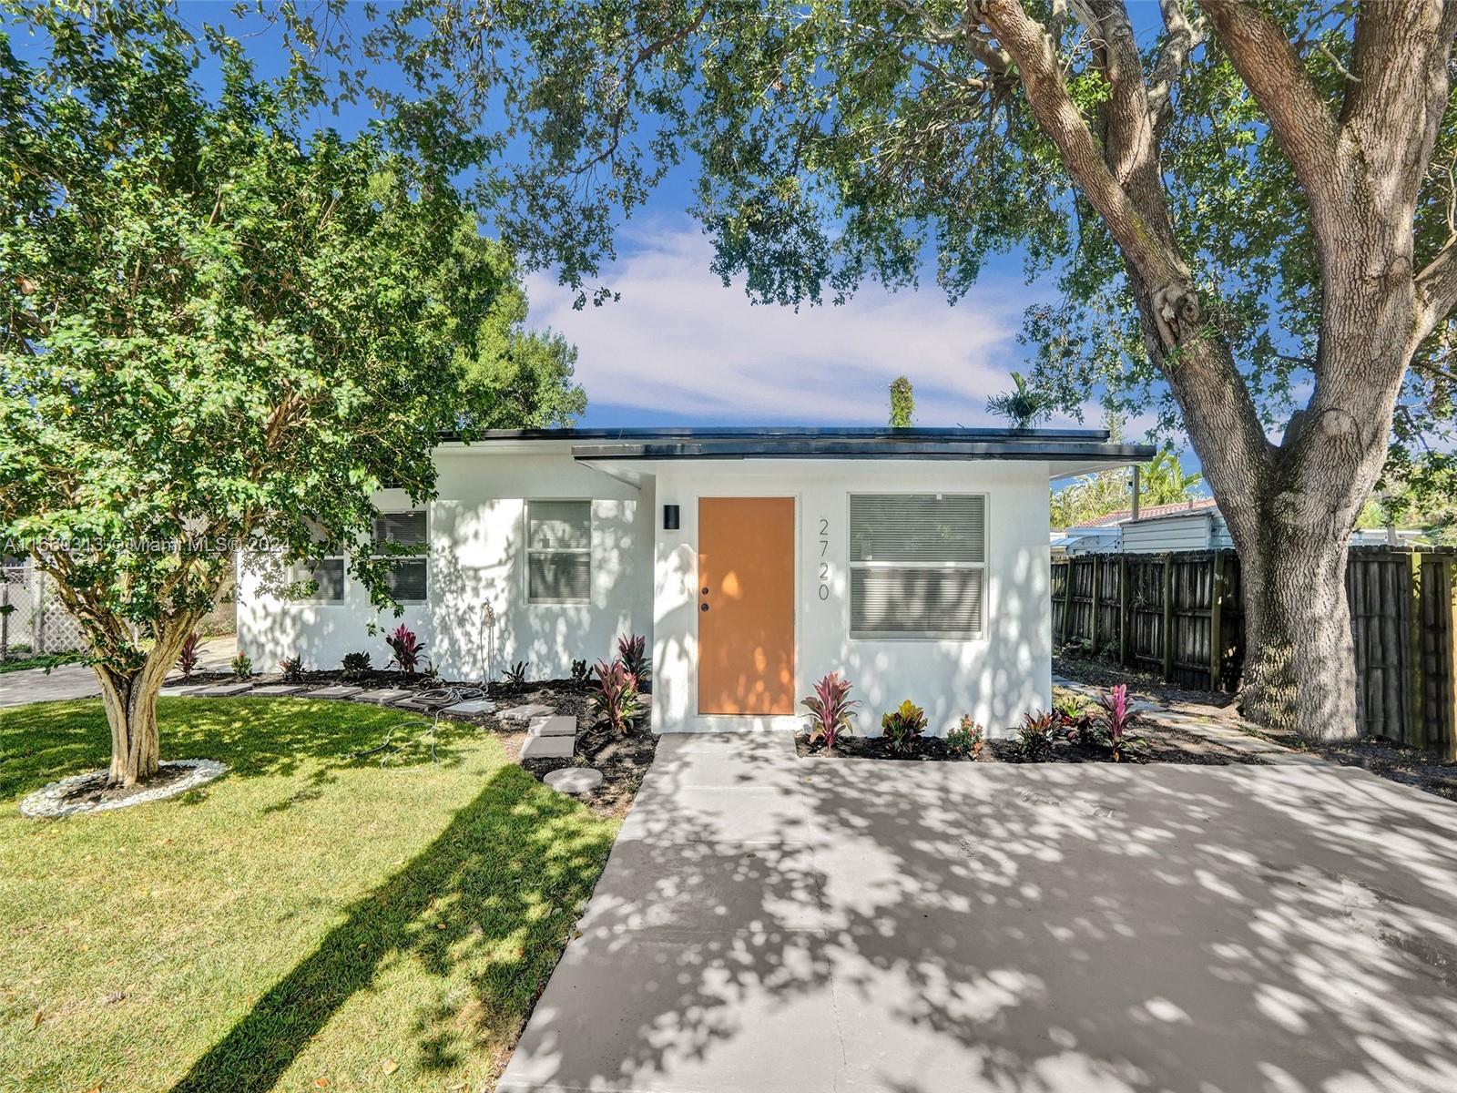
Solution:
<svg viewBox="0 0 1457 1093">
<path fill-rule="evenodd" d="M 1026 7 L 1050 29 L 1072 102 L 1100 133 L 1107 51 L 1087 16 L 1101 6 Z M 1276 428 L 1308 395 L 1320 332 L 1303 189 L 1198 6 L 1128 7 L 1158 111 L 1179 249 L 1211 329 Z M 1033 385 L 1074 412 L 1094 389 L 1119 412 L 1152 407 L 1155 431 L 1167 431 L 1179 410 L 1148 357 L 1123 259 L 978 9 L 962 0 L 415 0 L 382 10 L 356 51 L 325 34 L 339 0 L 300 9 L 288 25 L 302 66 L 325 44 L 348 93 L 369 85 L 372 66 L 390 64 L 412 82 L 411 99 L 431 95 L 431 112 L 395 111 L 409 138 L 430 146 L 440 131 L 476 134 L 481 197 L 504 238 L 581 286 L 583 299 L 613 254 L 621 216 L 696 160 L 694 211 L 715 243 L 714 268 L 726 281 L 742 275 L 755 299 L 841 300 L 867 277 L 911 284 L 928 256 L 956 299 L 989 255 L 1016 251 L 1029 277 L 1053 277 L 1059 296 L 1026 315 Z M 1358 6 L 1273 0 L 1262 9 L 1339 112 Z M 389 90 L 374 95 L 404 105 Z M 1418 268 L 1448 238 L 1454 157 L 1450 103 L 1418 197 Z M 609 294 L 594 287 L 596 299 Z M 1448 319 L 1407 375 L 1397 458 L 1451 446 L 1453 334 Z M 1453 484 L 1451 463 L 1441 468 Z"/>
</svg>

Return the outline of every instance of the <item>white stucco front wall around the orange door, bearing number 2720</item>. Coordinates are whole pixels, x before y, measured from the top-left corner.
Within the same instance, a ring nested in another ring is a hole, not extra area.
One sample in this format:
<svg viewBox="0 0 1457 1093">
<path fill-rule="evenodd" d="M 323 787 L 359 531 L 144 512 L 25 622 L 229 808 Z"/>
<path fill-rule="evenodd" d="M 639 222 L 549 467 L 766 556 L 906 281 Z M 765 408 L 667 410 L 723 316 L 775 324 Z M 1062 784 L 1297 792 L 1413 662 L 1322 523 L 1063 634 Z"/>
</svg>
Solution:
<svg viewBox="0 0 1457 1093">
<path fill-rule="evenodd" d="M 863 701 L 855 732 L 880 733 L 880 714 L 903 698 L 922 705 L 928 732 L 962 714 L 992 733 L 1013 729 L 1052 701 L 1048 465 L 1045 462 L 664 461 L 656 504 L 678 504 L 679 530 L 654 522 L 654 686 L 657 730 L 797 729 L 800 717 L 698 714 L 698 498 L 794 497 L 796 694 L 841 670 Z M 851 493 L 983 493 L 986 628 L 978 640 L 849 637 L 848 516 Z M 820 539 L 826 541 L 822 552 Z M 825 579 L 820 580 L 820 564 Z M 820 587 L 825 586 L 822 592 Z"/>
</svg>

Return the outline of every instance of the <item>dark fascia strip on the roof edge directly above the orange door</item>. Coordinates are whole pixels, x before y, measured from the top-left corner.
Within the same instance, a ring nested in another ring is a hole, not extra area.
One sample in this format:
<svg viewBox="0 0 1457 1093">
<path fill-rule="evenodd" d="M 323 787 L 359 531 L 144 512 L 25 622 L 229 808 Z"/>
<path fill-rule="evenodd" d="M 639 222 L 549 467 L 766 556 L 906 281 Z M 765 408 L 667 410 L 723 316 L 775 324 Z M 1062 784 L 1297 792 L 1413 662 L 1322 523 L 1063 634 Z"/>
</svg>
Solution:
<svg viewBox="0 0 1457 1093">
<path fill-rule="evenodd" d="M 1109 444 L 1090 440 L 956 440 L 956 442 L 854 442 L 798 439 L 720 443 L 618 443 L 571 449 L 583 462 L 628 459 L 1032 459 L 1039 462 L 1107 461 L 1145 462 L 1157 455 L 1152 444 Z"/>
</svg>

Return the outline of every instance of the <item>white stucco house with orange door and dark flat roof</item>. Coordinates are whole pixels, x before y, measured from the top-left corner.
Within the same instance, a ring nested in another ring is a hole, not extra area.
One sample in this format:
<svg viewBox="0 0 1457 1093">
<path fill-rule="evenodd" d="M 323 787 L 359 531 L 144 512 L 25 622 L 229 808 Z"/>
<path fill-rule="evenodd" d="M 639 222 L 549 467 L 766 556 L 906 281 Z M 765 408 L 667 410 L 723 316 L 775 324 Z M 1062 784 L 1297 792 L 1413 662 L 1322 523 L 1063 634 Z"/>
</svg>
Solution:
<svg viewBox="0 0 1457 1093">
<path fill-rule="evenodd" d="M 1048 482 L 1151 458 L 1101 430 L 624 428 L 492 433 L 441 443 L 439 495 L 385 491 L 376 535 L 402 621 L 446 678 L 529 663 L 555 679 L 653 650 L 657 732 L 797 729 L 839 670 L 858 733 L 903 698 L 932 732 L 991 730 L 1050 704 Z M 259 667 L 302 656 L 388 659 L 347 560 L 309 602 L 242 565 L 237 640 Z"/>
</svg>

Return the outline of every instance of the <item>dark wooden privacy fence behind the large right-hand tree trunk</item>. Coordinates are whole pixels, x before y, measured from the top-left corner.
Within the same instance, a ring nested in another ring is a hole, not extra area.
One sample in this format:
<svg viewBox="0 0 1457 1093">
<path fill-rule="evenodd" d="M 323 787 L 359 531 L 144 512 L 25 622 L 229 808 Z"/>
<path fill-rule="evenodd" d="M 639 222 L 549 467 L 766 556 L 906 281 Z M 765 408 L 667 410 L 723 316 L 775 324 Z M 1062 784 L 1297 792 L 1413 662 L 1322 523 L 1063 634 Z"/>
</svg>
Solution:
<svg viewBox="0 0 1457 1093">
<path fill-rule="evenodd" d="M 1457 551 L 1352 548 L 1346 600 L 1362 732 L 1457 755 Z M 1052 634 L 1177 686 L 1233 691 L 1244 666 L 1238 555 L 1053 563 Z"/>
</svg>

